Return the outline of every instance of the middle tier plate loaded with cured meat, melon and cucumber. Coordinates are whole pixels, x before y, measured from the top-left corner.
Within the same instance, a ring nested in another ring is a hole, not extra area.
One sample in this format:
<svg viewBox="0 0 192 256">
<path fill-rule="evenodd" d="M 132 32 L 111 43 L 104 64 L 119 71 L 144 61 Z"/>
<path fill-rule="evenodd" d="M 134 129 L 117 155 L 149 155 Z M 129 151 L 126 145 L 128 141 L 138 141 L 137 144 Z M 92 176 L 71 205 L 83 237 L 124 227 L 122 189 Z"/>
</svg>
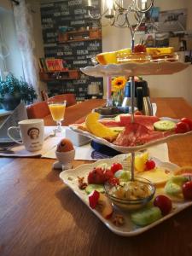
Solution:
<svg viewBox="0 0 192 256">
<path fill-rule="evenodd" d="M 83 124 L 69 127 L 121 153 L 136 152 L 177 137 L 192 135 L 192 120 L 187 118 L 135 114 L 134 123 L 131 123 L 130 114 L 119 114 L 114 119 L 99 118 L 99 113 L 90 113 Z"/>
</svg>

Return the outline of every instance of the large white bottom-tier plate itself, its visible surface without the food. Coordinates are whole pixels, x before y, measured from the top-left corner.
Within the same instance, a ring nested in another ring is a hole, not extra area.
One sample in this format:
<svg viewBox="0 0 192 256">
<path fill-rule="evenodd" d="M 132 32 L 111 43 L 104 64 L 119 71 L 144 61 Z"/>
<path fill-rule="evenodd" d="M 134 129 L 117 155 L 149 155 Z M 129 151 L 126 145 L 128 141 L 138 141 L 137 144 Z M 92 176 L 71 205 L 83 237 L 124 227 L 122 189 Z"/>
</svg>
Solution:
<svg viewBox="0 0 192 256">
<path fill-rule="evenodd" d="M 90 172 L 90 170 L 93 169 L 93 167 L 99 166 L 100 164 L 103 164 L 103 163 L 112 165 L 114 162 L 122 162 L 123 160 L 125 160 L 126 157 L 127 157 L 127 154 L 119 154 L 113 157 L 112 159 L 97 160 L 95 163 L 92 163 L 92 164 L 86 164 L 86 165 L 78 166 L 75 169 L 63 171 L 61 172 L 60 177 L 62 181 L 65 184 L 67 184 L 67 186 L 70 189 L 72 189 L 76 195 L 78 195 L 79 199 L 83 201 L 87 207 L 90 208 L 88 195 L 84 190 L 79 189 L 78 177 L 84 177 L 86 181 L 87 175 Z M 170 172 L 173 172 L 178 167 L 177 165 L 172 164 L 171 162 L 163 162 L 156 158 L 152 158 L 152 159 L 155 161 L 157 166 L 161 166 Z M 109 230 L 113 231 L 113 233 L 119 236 L 137 236 L 139 234 L 142 234 L 144 231 L 150 230 L 152 227 L 156 226 L 157 224 L 164 222 L 167 218 L 171 218 L 173 215 L 177 214 L 177 212 L 181 212 L 186 207 L 191 206 L 192 201 L 174 202 L 172 204 L 173 204 L 172 212 L 167 214 L 165 217 L 155 221 L 153 224 L 149 224 L 145 227 L 139 227 L 133 224 L 131 222 L 130 213 L 122 212 L 119 210 L 118 207 L 113 207 L 113 211 L 115 212 L 115 214 L 121 214 L 125 219 L 125 224 L 122 226 L 116 226 L 115 224 L 113 224 L 110 218 L 109 219 L 103 218 L 100 212 L 92 208 L 90 208 L 90 211 L 95 213 L 96 217 L 99 218 L 102 221 L 102 223 L 108 227 Z"/>
</svg>

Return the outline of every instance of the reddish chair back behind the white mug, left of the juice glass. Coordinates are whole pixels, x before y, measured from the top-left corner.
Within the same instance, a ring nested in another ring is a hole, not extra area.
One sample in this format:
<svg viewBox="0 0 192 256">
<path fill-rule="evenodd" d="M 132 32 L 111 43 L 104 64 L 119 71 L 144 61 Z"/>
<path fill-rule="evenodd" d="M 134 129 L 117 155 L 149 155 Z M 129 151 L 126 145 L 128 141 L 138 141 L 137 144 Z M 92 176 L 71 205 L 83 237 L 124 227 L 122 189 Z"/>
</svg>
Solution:
<svg viewBox="0 0 192 256">
<path fill-rule="evenodd" d="M 50 114 L 47 102 L 36 102 L 26 107 L 28 119 L 43 119 Z"/>
</svg>

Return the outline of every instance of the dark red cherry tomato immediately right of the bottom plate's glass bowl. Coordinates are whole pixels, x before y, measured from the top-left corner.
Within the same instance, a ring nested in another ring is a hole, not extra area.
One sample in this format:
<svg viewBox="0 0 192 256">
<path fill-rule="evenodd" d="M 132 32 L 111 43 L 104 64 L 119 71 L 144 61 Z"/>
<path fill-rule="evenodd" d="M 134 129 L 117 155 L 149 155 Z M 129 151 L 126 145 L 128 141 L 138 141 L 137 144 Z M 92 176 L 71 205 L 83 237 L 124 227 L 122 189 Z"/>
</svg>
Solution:
<svg viewBox="0 0 192 256">
<path fill-rule="evenodd" d="M 157 195 L 154 198 L 154 207 L 159 207 L 162 215 L 172 211 L 172 201 L 166 195 Z"/>
</svg>

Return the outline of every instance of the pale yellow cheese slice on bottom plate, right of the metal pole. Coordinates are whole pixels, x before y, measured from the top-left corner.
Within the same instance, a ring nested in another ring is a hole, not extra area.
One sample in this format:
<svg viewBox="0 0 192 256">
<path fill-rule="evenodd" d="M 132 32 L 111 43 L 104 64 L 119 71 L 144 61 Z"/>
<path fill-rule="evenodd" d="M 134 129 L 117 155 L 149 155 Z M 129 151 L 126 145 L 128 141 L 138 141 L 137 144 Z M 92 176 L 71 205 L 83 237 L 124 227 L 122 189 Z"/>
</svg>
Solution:
<svg viewBox="0 0 192 256">
<path fill-rule="evenodd" d="M 156 167 L 154 170 L 137 172 L 137 177 L 147 178 L 155 186 L 164 186 L 167 180 L 173 176 L 173 173 L 162 167 Z"/>
</svg>

